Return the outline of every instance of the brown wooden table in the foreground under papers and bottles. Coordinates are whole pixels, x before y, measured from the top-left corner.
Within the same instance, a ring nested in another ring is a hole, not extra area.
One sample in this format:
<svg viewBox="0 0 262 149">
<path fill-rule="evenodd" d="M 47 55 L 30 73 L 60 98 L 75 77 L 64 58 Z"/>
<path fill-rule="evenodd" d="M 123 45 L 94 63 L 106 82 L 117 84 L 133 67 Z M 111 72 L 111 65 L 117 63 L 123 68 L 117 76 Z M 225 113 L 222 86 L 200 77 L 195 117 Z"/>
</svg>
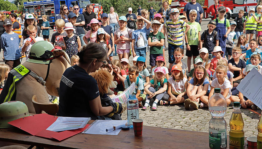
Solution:
<svg viewBox="0 0 262 149">
<path fill-rule="evenodd" d="M 88 124 L 91 124 L 90 120 Z M 208 133 L 166 129 L 143 126 L 143 136 L 135 137 L 133 129 L 121 130 L 118 135 L 95 135 L 79 133 L 61 142 L 32 136 L 18 129 L 0 129 L 0 141 L 19 144 L 66 148 L 177 148 L 177 149 L 206 149 L 208 148 Z M 229 137 L 227 138 L 229 141 Z M 229 148 L 229 146 L 228 146 Z M 247 147 L 245 147 L 247 148 Z"/>
</svg>

